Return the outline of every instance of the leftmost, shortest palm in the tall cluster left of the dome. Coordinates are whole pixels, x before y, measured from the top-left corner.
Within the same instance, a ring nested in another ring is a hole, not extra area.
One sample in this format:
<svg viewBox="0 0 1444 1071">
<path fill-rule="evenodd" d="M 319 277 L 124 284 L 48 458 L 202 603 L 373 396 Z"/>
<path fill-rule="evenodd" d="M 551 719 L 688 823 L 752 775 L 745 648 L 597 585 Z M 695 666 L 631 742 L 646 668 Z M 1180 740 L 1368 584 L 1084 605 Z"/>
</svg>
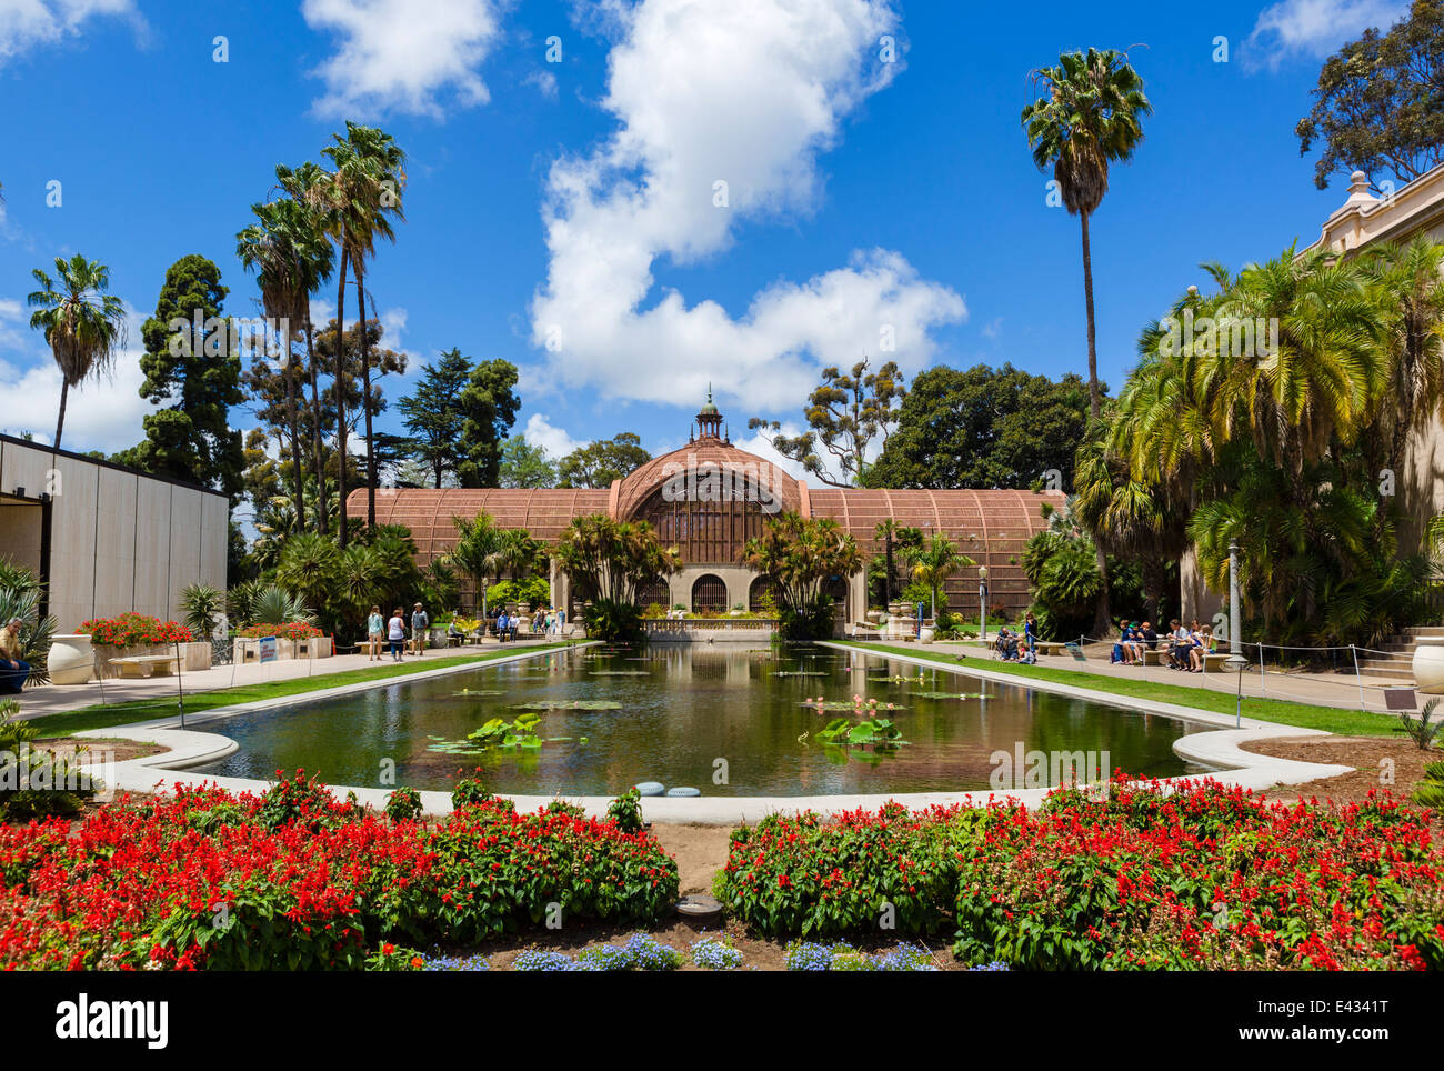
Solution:
<svg viewBox="0 0 1444 1071">
<path fill-rule="evenodd" d="M 306 325 L 310 318 L 310 292 L 318 281 L 322 266 L 329 274 L 331 245 L 313 225 L 309 209 L 297 201 L 273 201 L 251 205 L 260 222 L 251 224 L 235 235 L 235 255 L 241 266 L 256 270 L 256 281 L 261 290 L 261 306 L 266 315 L 286 322 L 286 403 L 290 423 L 290 452 L 296 515 L 300 531 L 305 531 L 306 511 L 303 508 L 305 478 L 302 475 L 300 430 L 296 413 L 296 370 L 290 355 L 295 336 L 292 323 Z M 309 342 L 310 332 L 306 331 Z"/>
</svg>

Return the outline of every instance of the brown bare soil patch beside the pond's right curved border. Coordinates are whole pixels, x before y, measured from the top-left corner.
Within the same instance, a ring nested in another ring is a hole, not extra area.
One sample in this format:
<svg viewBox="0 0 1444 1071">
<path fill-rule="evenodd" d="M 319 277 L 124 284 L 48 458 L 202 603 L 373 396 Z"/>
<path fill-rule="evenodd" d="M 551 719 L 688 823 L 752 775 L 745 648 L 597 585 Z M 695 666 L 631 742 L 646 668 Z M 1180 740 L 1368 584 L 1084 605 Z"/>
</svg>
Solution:
<svg viewBox="0 0 1444 1071">
<path fill-rule="evenodd" d="M 1336 803 L 1362 803 L 1370 790 L 1388 788 L 1399 797 L 1414 792 L 1428 762 L 1444 759 L 1444 749 L 1419 751 L 1402 733 L 1396 739 L 1379 736 L 1294 736 L 1272 740 L 1246 740 L 1243 751 L 1297 762 L 1327 762 L 1353 766 L 1352 774 L 1308 781 L 1302 785 L 1276 785 L 1262 795 L 1269 800 L 1315 798 Z M 1434 826 L 1444 826 L 1444 814 L 1434 816 Z"/>
</svg>

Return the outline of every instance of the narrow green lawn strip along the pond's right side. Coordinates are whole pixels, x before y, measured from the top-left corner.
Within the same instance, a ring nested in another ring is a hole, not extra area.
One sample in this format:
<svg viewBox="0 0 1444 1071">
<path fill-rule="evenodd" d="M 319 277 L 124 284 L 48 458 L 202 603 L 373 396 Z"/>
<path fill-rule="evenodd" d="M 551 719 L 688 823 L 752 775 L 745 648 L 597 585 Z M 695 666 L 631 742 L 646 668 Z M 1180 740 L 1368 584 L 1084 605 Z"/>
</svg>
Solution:
<svg viewBox="0 0 1444 1071">
<path fill-rule="evenodd" d="M 840 641 L 839 641 L 840 642 Z M 1126 677 L 1105 677 L 1097 673 L 1076 670 L 1053 670 L 1045 665 L 1019 665 L 1017 663 L 992 661 L 985 655 L 967 655 L 959 661 L 957 655 L 920 651 L 915 647 L 895 647 L 890 644 L 856 644 L 846 642 L 859 651 L 875 654 L 901 654 L 910 658 L 927 658 L 947 668 L 979 668 L 991 673 L 1004 673 L 1009 677 L 1025 680 L 1045 680 L 1058 684 L 1073 684 L 1079 688 L 1108 691 L 1115 696 L 1129 699 L 1151 699 L 1158 703 L 1174 703 L 1177 706 L 1209 710 L 1217 714 L 1233 714 L 1235 697 L 1222 691 L 1207 691 L 1191 688 L 1183 684 L 1155 684 L 1152 681 L 1131 680 Z M 1399 722 L 1392 714 L 1379 714 L 1363 710 L 1341 710 L 1339 707 L 1321 707 L 1310 703 L 1289 703 L 1279 699 L 1249 699 L 1243 697 L 1243 716 L 1256 717 L 1261 722 L 1276 722 L 1278 725 L 1295 725 L 1302 729 L 1323 729 L 1330 733 L 1344 736 L 1392 736 Z"/>
</svg>

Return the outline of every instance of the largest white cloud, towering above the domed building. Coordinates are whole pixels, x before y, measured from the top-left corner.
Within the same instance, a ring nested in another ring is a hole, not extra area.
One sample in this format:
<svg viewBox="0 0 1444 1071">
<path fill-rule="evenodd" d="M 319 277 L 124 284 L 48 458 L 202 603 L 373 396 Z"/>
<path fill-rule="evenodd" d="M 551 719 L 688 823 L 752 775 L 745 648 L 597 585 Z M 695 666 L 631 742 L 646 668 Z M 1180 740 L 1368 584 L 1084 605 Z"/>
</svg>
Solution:
<svg viewBox="0 0 1444 1071">
<path fill-rule="evenodd" d="M 531 338 L 549 378 L 680 404 L 710 381 L 751 414 L 794 407 L 820 367 L 864 354 L 921 367 L 930 331 L 966 309 L 895 251 L 773 283 L 738 319 L 676 290 L 644 307 L 658 258 L 715 258 L 739 218 L 816 209 L 819 153 L 897 71 L 878 58 L 879 38 L 898 35 L 887 1 L 644 0 L 617 17 L 604 104 L 618 130 L 547 180 L 550 266 Z"/>
</svg>

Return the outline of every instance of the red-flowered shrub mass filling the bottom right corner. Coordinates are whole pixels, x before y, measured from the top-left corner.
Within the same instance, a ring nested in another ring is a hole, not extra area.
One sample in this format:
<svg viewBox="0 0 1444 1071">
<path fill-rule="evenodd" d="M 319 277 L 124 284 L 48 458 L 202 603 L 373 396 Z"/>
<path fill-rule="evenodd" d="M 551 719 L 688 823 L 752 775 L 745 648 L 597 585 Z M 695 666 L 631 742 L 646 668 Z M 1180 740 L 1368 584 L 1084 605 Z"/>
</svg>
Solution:
<svg viewBox="0 0 1444 1071">
<path fill-rule="evenodd" d="M 1266 803 L 1115 782 L 995 811 L 965 850 L 953 951 L 1077 969 L 1444 966 L 1428 824 L 1388 797 Z"/>
</svg>

